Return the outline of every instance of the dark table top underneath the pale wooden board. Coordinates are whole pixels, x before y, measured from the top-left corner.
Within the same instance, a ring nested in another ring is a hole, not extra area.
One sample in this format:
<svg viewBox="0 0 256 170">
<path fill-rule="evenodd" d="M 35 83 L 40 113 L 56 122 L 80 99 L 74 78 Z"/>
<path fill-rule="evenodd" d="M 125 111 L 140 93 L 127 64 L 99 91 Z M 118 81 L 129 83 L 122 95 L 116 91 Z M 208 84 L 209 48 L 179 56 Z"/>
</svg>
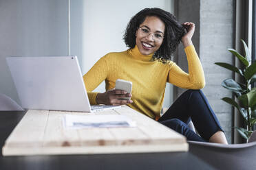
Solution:
<svg viewBox="0 0 256 170">
<path fill-rule="evenodd" d="M 0 147 L 25 111 L 0 111 Z M 191 152 L 67 156 L 0 156 L 0 169 L 214 169 Z"/>
</svg>

